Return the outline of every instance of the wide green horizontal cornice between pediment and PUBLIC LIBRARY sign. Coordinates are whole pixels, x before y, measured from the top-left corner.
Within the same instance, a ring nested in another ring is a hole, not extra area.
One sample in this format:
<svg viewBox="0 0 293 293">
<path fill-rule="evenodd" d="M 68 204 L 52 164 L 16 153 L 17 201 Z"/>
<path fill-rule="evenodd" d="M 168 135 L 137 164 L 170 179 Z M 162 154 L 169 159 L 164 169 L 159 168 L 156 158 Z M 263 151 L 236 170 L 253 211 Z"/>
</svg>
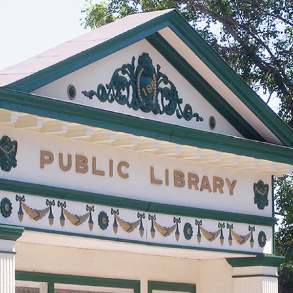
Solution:
<svg viewBox="0 0 293 293">
<path fill-rule="evenodd" d="M 293 149 L 0 88 L 0 108 L 293 165 Z"/>
</svg>

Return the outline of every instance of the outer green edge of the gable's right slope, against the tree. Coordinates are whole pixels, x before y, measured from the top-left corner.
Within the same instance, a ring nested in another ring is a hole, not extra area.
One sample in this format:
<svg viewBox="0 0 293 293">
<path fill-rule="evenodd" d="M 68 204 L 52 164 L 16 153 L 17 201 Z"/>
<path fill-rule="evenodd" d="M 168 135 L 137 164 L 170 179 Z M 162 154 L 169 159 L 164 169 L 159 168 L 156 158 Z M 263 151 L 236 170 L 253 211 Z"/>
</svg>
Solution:
<svg viewBox="0 0 293 293">
<path fill-rule="evenodd" d="M 230 65 L 176 11 L 171 29 L 285 146 L 293 146 L 293 129 L 251 89 Z"/>
</svg>

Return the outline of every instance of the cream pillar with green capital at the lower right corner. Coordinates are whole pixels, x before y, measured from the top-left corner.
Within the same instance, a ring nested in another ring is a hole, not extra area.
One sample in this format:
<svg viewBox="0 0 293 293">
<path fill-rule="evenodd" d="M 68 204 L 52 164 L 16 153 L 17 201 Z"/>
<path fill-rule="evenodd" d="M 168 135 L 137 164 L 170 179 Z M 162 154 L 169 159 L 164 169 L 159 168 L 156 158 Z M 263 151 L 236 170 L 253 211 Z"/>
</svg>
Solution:
<svg viewBox="0 0 293 293">
<path fill-rule="evenodd" d="M 277 267 L 283 257 L 263 254 L 227 261 L 233 267 L 233 293 L 278 293 Z"/>
</svg>

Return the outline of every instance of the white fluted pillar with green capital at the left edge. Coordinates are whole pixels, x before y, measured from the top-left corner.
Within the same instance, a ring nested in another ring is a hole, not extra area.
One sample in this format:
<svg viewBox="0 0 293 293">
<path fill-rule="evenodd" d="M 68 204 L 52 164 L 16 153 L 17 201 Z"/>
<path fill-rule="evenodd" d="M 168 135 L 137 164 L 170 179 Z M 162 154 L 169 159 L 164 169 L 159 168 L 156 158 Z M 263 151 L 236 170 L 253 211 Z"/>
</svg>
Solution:
<svg viewBox="0 0 293 293">
<path fill-rule="evenodd" d="M 0 225 L 0 293 L 15 293 L 15 241 L 23 228 Z"/>
</svg>

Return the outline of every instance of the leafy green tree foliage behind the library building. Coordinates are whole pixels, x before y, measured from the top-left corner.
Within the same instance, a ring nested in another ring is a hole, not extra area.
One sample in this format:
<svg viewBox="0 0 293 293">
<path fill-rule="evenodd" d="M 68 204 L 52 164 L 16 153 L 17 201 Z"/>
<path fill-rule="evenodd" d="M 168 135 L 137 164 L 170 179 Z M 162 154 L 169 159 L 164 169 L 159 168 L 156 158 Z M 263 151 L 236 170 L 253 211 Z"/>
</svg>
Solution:
<svg viewBox="0 0 293 293">
<path fill-rule="evenodd" d="M 280 117 L 293 128 L 292 0 L 86 0 L 84 27 L 96 28 L 129 14 L 176 8 L 256 91 L 279 98 Z M 280 293 L 293 288 L 293 177 L 275 180 Z"/>
</svg>

